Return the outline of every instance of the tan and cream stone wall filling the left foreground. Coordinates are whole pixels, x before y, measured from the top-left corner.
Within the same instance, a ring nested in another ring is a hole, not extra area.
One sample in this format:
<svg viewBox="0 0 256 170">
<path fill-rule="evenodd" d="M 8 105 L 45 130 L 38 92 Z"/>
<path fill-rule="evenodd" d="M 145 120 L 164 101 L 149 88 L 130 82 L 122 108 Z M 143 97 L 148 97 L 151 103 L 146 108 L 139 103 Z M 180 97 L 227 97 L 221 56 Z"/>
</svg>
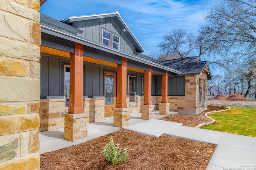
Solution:
<svg viewBox="0 0 256 170">
<path fill-rule="evenodd" d="M 40 2 L 0 1 L 0 169 L 39 169 Z"/>
</svg>

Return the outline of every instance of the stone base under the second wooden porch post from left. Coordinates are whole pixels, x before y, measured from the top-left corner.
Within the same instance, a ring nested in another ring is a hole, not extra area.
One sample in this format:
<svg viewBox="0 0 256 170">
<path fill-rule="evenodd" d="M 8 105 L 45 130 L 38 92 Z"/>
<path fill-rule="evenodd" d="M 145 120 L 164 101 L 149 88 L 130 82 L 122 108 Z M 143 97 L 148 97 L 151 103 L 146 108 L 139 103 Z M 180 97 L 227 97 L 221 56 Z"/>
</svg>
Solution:
<svg viewBox="0 0 256 170">
<path fill-rule="evenodd" d="M 114 108 L 114 126 L 126 127 L 130 124 L 130 108 Z"/>
</svg>

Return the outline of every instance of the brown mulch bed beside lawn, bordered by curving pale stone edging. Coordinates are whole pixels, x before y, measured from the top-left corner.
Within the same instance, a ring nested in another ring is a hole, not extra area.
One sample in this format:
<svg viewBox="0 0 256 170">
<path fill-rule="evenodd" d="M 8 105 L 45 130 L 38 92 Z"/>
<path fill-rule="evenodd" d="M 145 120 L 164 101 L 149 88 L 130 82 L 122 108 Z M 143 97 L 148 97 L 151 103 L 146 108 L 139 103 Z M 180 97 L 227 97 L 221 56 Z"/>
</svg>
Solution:
<svg viewBox="0 0 256 170">
<path fill-rule="evenodd" d="M 196 127 L 197 125 L 200 125 L 201 123 L 207 123 L 212 121 L 212 119 L 209 119 L 205 116 L 205 113 L 209 111 L 216 111 L 216 110 L 225 110 L 227 107 L 220 107 L 220 106 L 212 106 L 208 105 L 208 110 L 203 111 L 197 115 L 184 115 L 184 114 L 173 114 L 170 115 L 170 118 L 162 117 L 160 120 L 165 121 L 174 121 L 178 123 L 182 123 L 183 126 L 190 126 L 190 127 Z"/>
</svg>

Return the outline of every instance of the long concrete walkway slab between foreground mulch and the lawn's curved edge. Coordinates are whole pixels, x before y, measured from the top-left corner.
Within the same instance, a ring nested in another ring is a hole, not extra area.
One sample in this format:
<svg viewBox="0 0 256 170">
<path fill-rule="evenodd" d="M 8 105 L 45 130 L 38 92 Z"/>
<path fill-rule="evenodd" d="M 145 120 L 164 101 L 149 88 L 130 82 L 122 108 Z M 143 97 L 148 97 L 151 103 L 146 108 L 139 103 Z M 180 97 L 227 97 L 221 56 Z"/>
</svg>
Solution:
<svg viewBox="0 0 256 170">
<path fill-rule="evenodd" d="M 198 129 L 187 126 L 177 126 L 165 132 L 166 135 L 172 137 L 179 137 L 184 139 L 190 139 L 198 142 L 206 142 L 214 145 L 218 145 L 223 132 L 210 131 L 206 129 Z"/>
</svg>

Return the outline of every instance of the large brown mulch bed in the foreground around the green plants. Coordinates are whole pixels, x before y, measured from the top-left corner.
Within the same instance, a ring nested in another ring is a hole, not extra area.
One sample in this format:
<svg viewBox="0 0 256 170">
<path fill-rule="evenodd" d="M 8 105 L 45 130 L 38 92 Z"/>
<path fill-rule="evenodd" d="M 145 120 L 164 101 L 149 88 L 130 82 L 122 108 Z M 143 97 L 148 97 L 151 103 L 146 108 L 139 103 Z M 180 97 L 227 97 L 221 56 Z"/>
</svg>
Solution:
<svg viewBox="0 0 256 170">
<path fill-rule="evenodd" d="M 121 140 L 124 134 L 128 139 Z M 114 142 L 128 149 L 127 160 L 112 165 L 102 148 Z M 41 170 L 204 170 L 216 145 L 162 135 L 158 138 L 120 129 L 85 143 L 40 154 Z"/>
</svg>

